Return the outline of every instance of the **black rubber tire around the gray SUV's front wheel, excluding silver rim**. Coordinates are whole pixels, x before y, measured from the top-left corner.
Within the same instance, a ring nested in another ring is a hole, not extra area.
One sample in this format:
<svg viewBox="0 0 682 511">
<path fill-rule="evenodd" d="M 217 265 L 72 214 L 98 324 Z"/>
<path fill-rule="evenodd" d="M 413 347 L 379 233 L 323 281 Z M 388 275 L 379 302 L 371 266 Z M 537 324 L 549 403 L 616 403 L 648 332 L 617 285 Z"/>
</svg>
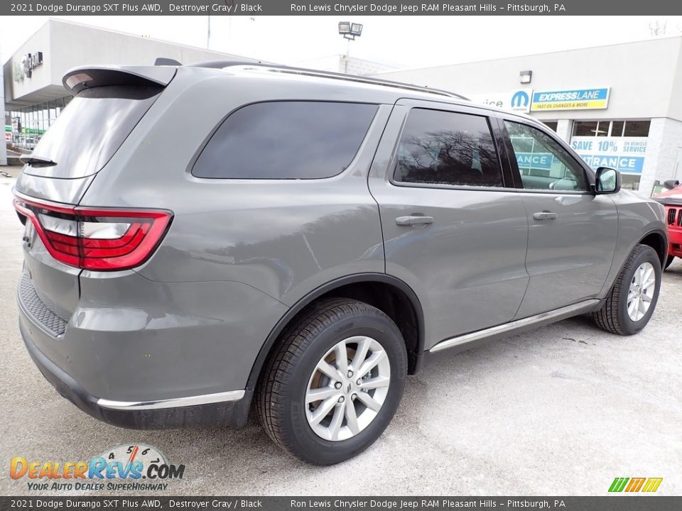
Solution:
<svg viewBox="0 0 682 511">
<path fill-rule="evenodd" d="M 630 282 L 634 278 L 634 272 L 642 263 L 649 262 L 654 267 L 656 283 L 654 284 L 654 296 L 651 299 L 649 310 L 644 317 L 634 322 L 627 314 L 627 294 Z M 653 248 L 646 245 L 637 245 L 627 256 L 625 263 L 614 282 L 611 292 L 606 297 L 604 306 L 597 312 L 592 313 L 600 329 L 619 335 L 637 334 L 651 319 L 651 314 L 656 309 L 656 302 L 659 299 L 661 289 L 661 260 Z"/>
</svg>

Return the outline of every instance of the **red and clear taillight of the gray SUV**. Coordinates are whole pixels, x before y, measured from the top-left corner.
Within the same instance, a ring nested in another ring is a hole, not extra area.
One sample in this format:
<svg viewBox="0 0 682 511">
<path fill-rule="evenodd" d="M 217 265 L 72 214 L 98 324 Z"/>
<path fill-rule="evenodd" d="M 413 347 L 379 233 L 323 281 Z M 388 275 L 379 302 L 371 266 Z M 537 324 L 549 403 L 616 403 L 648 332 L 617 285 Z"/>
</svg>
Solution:
<svg viewBox="0 0 682 511">
<path fill-rule="evenodd" d="M 67 207 L 23 197 L 14 207 L 26 216 L 50 255 L 84 270 L 126 270 L 141 265 L 171 224 L 171 211 Z"/>
</svg>

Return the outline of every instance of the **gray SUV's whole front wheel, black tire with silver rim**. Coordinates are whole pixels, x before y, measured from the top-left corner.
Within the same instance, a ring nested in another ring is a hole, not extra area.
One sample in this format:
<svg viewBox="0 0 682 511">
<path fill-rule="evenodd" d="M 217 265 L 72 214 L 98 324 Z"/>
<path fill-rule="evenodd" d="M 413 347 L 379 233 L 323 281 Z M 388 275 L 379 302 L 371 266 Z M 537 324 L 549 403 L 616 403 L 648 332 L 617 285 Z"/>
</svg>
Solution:
<svg viewBox="0 0 682 511">
<path fill-rule="evenodd" d="M 661 288 L 661 261 L 653 248 L 637 245 L 627 256 L 604 306 L 592 317 L 612 334 L 637 334 L 654 314 Z"/>
</svg>

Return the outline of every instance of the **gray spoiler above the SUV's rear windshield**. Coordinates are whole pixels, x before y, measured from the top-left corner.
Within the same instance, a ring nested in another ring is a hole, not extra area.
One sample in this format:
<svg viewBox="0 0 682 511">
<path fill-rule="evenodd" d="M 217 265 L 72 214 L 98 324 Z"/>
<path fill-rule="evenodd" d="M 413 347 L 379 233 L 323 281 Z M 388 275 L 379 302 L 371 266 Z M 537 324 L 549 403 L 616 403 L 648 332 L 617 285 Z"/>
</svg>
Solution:
<svg viewBox="0 0 682 511">
<path fill-rule="evenodd" d="M 62 83 L 72 94 L 102 85 L 160 85 L 166 87 L 177 67 L 172 66 L 94 66 L 77 67 L 64 75 Z"/>
</svg>

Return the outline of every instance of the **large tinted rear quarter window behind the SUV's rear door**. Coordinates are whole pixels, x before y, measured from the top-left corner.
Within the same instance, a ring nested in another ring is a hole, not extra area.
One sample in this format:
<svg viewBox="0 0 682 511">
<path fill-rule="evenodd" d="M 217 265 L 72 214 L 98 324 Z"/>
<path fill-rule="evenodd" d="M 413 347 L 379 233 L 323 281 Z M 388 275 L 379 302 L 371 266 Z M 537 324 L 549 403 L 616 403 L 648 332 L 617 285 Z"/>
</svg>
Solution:
<svg viewBox="0 0 682 511">
<path fill-rule="evenodd" d="M 274 101 L 225 119 L 192 170 L 197 177 L 318 179 L 357 153 L 377 105 Z"/>
</svg>

